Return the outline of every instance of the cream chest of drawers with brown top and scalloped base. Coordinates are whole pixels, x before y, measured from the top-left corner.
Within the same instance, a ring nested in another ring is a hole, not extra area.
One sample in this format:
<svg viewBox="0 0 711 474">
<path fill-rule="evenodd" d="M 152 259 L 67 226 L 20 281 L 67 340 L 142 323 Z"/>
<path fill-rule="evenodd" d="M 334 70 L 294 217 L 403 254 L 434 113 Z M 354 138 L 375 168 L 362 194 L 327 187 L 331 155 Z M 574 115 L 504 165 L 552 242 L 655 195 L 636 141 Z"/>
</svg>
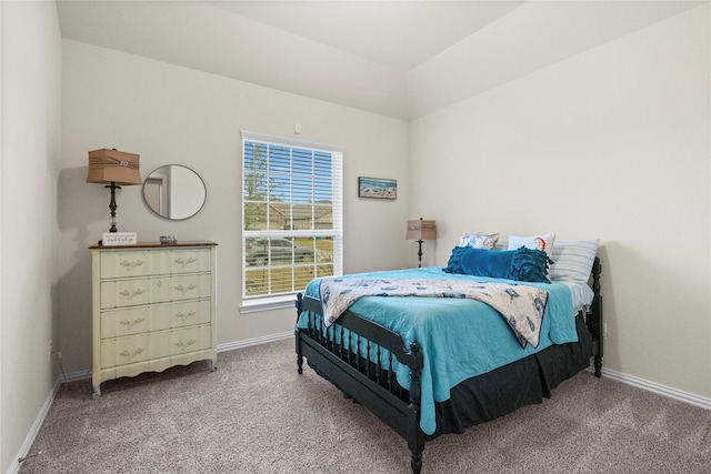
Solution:
<svg viewBox="0 0 711 474">
<path fill-rule="evenodd" d="M 92 383 L 208 360 L 217 367 L 216 244 L 99 246 L 92 265 Z"/>
</svg>

